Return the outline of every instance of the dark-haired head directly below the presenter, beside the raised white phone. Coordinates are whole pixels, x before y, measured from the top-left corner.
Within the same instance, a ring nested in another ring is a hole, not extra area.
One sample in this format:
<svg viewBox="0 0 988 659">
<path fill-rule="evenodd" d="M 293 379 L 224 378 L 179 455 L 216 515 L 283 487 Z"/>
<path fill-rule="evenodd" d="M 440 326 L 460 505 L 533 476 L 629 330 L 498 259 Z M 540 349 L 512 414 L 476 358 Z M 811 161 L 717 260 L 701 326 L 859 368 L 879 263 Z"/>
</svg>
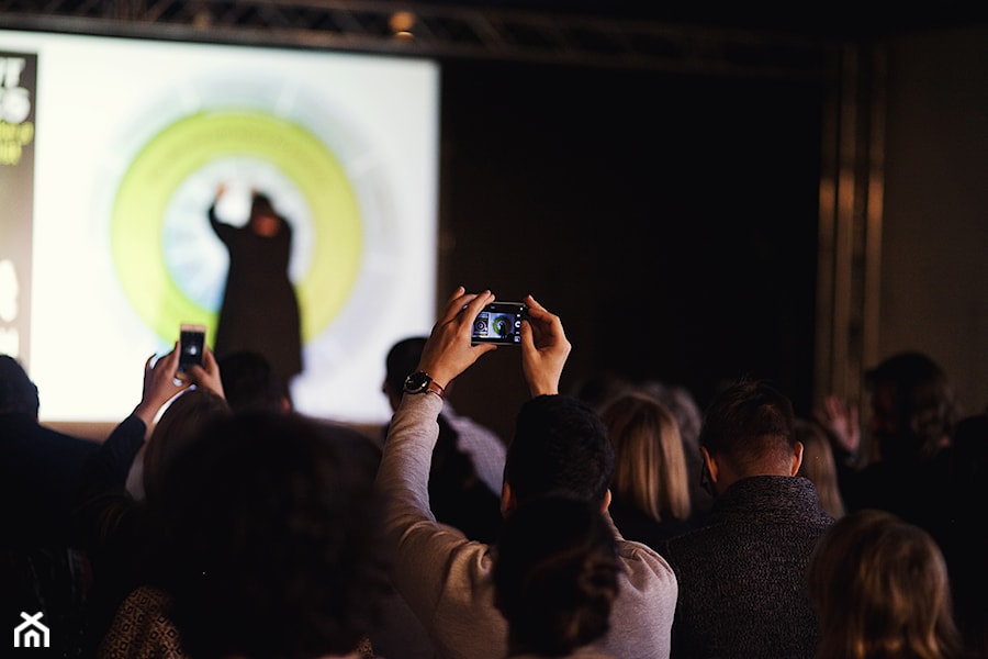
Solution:
<svg viewBox="0 0 988 659">
<path fill-rule="evenodd" d="M 247 410 L 288 412 L 291 400 L 267 357 L 255 350 L 236 350 L 217 358 L 223 391 L 234 412 Z"/>
</svg>

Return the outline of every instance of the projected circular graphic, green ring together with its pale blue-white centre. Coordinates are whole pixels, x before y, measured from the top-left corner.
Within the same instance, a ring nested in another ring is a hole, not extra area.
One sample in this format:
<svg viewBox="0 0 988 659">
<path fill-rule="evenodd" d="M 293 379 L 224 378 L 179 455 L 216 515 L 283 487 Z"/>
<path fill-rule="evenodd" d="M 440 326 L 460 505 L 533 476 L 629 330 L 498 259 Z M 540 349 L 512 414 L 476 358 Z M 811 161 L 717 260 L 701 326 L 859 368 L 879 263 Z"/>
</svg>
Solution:
<svg viewBox="0 0 988 659">
<path fill-rule="evenodd" d="M 299 248 L 291 276 L 306 309 L 302 334 L 308 340 L 339 312 L 358 277 L 360 208 L 324 144 L 267 112 L 192 114 L 137 153 L 111 213 L 111 249 L 124 293 L 166 343 L 175 338 L 175 319 L 215 326 L 224 266 L 205 213 L 216 181 L 228 180 L 265 181 L 263 191 L 292 222 Z"/>
</svg>

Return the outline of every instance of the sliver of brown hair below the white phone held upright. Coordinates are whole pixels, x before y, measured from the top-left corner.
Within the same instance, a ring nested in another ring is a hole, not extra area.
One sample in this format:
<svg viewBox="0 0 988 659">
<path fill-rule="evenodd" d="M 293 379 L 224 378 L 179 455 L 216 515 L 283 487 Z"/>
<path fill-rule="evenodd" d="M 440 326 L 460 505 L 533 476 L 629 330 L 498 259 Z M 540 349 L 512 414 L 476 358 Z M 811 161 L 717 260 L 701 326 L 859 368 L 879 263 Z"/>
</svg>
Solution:
<svg viewBox="0 0 988 659">
<path fill-rule="evenodd" d="M 162 474 L 182 450 L 199 437 L 199 431 L 220 416 L 232 414 L 223 396 L 209 389 L 187 389 L 161 412 L 144 445 L 141 481 L 133 492 L 151 500 L 160 495 Z M 143 492 L 142 492 L 143 490 Z"/>
</svg>

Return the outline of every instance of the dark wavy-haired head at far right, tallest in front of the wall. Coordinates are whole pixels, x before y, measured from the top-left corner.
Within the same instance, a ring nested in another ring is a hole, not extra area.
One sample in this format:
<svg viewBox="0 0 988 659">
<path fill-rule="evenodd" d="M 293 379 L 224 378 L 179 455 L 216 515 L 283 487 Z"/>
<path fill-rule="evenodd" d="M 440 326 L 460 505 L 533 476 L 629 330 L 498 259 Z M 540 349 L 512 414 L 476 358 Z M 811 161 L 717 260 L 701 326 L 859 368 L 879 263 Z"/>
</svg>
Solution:
<svg viewBox="0 0 988 659">
<path fill-rule="evenodd" d="M 935 455 L 950 444 L 957 403 L 944 370 L 922 353 L 899 353 L 865 373 L 868 428 L 883 460 Z"/>
</svg>

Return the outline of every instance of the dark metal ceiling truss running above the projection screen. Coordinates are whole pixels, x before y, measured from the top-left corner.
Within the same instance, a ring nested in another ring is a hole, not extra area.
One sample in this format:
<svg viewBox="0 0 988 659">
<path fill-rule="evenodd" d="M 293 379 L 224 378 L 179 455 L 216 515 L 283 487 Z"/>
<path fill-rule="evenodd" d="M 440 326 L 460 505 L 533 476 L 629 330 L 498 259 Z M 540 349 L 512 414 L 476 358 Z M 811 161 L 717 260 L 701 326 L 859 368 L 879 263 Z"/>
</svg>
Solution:
<svg viewBox="0 0 988 659">
<path fill-rule="evenodd" d="M 0 0 L 0 27 L 688 74 L 828 74 L 827 44 L 811 38 L 372 0 Z"/>
</svg>

